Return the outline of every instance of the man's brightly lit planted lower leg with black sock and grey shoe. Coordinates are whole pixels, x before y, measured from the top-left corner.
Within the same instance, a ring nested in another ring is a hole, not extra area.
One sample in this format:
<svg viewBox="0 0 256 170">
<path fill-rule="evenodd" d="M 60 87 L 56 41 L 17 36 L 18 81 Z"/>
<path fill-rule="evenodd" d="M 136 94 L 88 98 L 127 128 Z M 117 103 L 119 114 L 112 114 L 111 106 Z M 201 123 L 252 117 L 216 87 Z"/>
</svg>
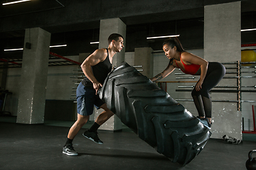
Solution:
<svg viewBox="0 0 256 170">
<path fill-rule="evenodd" d="M 78 134 L 79 130 L 82 128 L 85 123 L 89 120 L 90 115 L 80 115 L 78 114 L 78 120 L 75 121 L 75 123 L 72 125 L 68 132 L 68 139 L 65 142 L 65 145 L 63 147 L 63 154 L 68 155 L 78 155 L 78 152 L 75 151 L 73 148 L 73 139 L 75 138 L 75 135 Z"/>
</svg>

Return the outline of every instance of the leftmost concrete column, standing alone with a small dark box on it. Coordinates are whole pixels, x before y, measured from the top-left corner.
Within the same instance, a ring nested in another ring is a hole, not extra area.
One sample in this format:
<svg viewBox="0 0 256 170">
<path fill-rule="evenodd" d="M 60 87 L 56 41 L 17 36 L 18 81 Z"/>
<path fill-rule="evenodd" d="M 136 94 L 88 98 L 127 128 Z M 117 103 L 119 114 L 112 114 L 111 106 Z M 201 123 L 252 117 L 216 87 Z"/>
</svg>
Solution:
<svg viewBox="0 0 256 170">
<path fill-rule="evenodd" d="M 31 42 L 31 49 L 26 48 Z M 17 123 L 44 122 L 50 33 L 41 28 L 28 28 L 25 33 L 21 81 L 18 96 Z"/>
</svg>

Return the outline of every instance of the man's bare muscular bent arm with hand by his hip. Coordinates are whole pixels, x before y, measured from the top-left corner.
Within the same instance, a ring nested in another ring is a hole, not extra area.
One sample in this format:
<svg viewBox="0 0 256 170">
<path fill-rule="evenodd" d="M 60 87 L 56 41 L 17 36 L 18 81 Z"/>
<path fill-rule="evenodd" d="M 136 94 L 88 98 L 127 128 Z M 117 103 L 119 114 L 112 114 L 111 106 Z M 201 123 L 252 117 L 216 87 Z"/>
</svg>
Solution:
<svg viewBox="0 0 256 170">
<path fill-rule="evenodd" d="M 93 88 L 97 91 L 100 89 L 102 84 L 100 84 L 99 81 L 95 78 L 92 72 L 92 66 L 95 66 L 99 62 L 102 62 L 107 57 L 107 52 L 105 49 L 99 49 L 95 50 L 89 57 L 85 59 L 84 62 L 81 64 L 82 72 L 85 74 L 85 76 L 92 81 Z"/>
</svg>

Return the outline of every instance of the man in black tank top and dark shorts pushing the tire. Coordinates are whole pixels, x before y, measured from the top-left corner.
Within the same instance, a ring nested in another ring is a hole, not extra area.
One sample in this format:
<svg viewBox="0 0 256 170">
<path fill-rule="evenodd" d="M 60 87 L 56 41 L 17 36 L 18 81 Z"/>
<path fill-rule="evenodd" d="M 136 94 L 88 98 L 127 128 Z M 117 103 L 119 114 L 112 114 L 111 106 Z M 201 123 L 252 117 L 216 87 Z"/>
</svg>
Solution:
<svg viewBox="0 0 256 170">
<path fill-rule="evenodd" d="M 97 136 L 97 129 L 114 115 L 114 113 L 107 108 L 106 103 L 100 100 L 97 91 L 104 83 L 107 74 L 112 70 L 112 58 L 124 47 L 124 38 L 122 35 L 113 33 L 108 38 L 108 42 L 108 48 L 95 50 L 81 64 L 85 79 L 78 85 L 76 94 L 78 101 L 78 120 L 75 121 L 68 132 L 68 139 L 63 147 L 63 154 L 78 155 L 78 152 L 73 148 L 72 142 L 78 131 L 89 120 L 90 115 L 93 113 L 93 106 L 97 109 L 102 108 L 104 111 L 100 113 L 91 128 L 86 130 L 82 135 L 98 144 L 103 143 Z"/>
</svg>

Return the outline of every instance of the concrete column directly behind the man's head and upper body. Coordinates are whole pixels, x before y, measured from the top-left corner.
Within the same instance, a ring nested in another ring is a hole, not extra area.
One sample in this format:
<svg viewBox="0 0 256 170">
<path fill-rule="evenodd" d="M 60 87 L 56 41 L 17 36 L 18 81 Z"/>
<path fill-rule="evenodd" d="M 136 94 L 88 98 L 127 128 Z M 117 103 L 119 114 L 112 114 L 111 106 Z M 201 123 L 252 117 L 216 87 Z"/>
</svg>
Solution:
<svg viewBox="0 0 256 170">
<path fill-rule="evenodd" d="M 112 18 L 112 19 L 105 19 L 100 21 L 100 44 L 99 48 L 106 48 L 108 47 L 107 38 L 112 33 L 119 33 L 124 37 L 124 42 L 126 38 L 126 25 L 121 21 L 119 18 Z M 124 43 L 125 46 L 125 43 Z M 125 47 L 123 50 L 116 55 L 114 55 L 112 65 L 113 67 L 118 67 L 119 64 L 124 62 L 124 55 L 125 55 Z M 95 109 L 95 119 L 97 118 L 100 113 L 102 113 L 102 109 L 96 110 Z M 112 116 L 106 123 L 104 123 L 100 130 L 122 130 L 122 122 L 117 118 L 116 115 Z"/>
</svg>

